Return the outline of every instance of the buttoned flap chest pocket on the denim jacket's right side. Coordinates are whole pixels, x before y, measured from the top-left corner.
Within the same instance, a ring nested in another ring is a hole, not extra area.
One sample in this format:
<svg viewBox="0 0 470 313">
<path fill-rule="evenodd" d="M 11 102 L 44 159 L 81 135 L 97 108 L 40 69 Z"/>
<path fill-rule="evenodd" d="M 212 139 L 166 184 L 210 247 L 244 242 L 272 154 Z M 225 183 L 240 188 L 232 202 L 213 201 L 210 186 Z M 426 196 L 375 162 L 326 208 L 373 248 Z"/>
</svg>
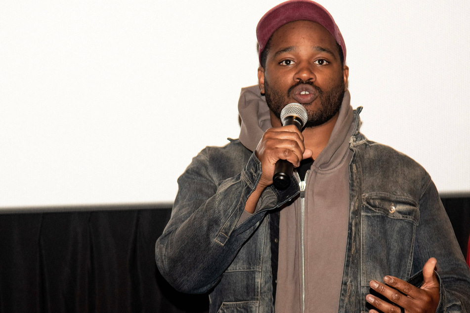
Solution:
<svg viewBox="0 0 470 313">
<path fill-rule="evenodd" d="M 362 195 L 361 284 L 385 275 L 407 279 L 411 272 L 418 203 L 388 193 Z"/>
</svg>

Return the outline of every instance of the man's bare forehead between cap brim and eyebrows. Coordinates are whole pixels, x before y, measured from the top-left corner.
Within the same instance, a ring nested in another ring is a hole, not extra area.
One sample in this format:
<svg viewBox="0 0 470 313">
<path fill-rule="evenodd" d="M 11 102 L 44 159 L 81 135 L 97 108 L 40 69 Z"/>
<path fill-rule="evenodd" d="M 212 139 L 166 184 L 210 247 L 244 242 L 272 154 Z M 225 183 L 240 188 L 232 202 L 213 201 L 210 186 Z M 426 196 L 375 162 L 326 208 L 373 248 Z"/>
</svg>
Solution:
<svg viewBox="0 0 470 313">
<path fill-rule="evenodd" d="M 322 25 L 306 20 L 287 23 L 277 29 L 270 39 L 271 49 L 309 44 L 336 51 L 337 42 Z"/>
</svg>

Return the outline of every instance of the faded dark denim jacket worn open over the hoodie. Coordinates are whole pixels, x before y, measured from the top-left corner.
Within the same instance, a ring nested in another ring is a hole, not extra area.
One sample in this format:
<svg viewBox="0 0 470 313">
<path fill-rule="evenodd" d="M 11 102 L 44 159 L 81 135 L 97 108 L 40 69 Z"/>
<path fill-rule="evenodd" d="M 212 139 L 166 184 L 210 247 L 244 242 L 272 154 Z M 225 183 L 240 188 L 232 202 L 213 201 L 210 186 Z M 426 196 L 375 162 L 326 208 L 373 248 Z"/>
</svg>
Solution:
<svg viewBox="0 0 470 313">
<path fill-rule="evenodd" d="M 439 264 L 437 312 L 470 311 L 470 271 L 434 184 L 413 159 L 367 140 L 359 132 L 360 111 L 354 111 L 349 141 L 350 209 L 339 311 L 368 312 L 372 279 L 393 275 L 419 286 L 430 257 Z M 201 151 L 178 179 L 156 261 L 177 290 L 210 293 L 210 312 L 274 311 L 277 255 L 271 253 L 276 249 L 270 221 L 299 197 L 299 187 L 293 181 L 282 192 L 266 188 L 256 213 L 237 223 L 260 175 L 255 154 L 231 140 Z"/>
</svg>

